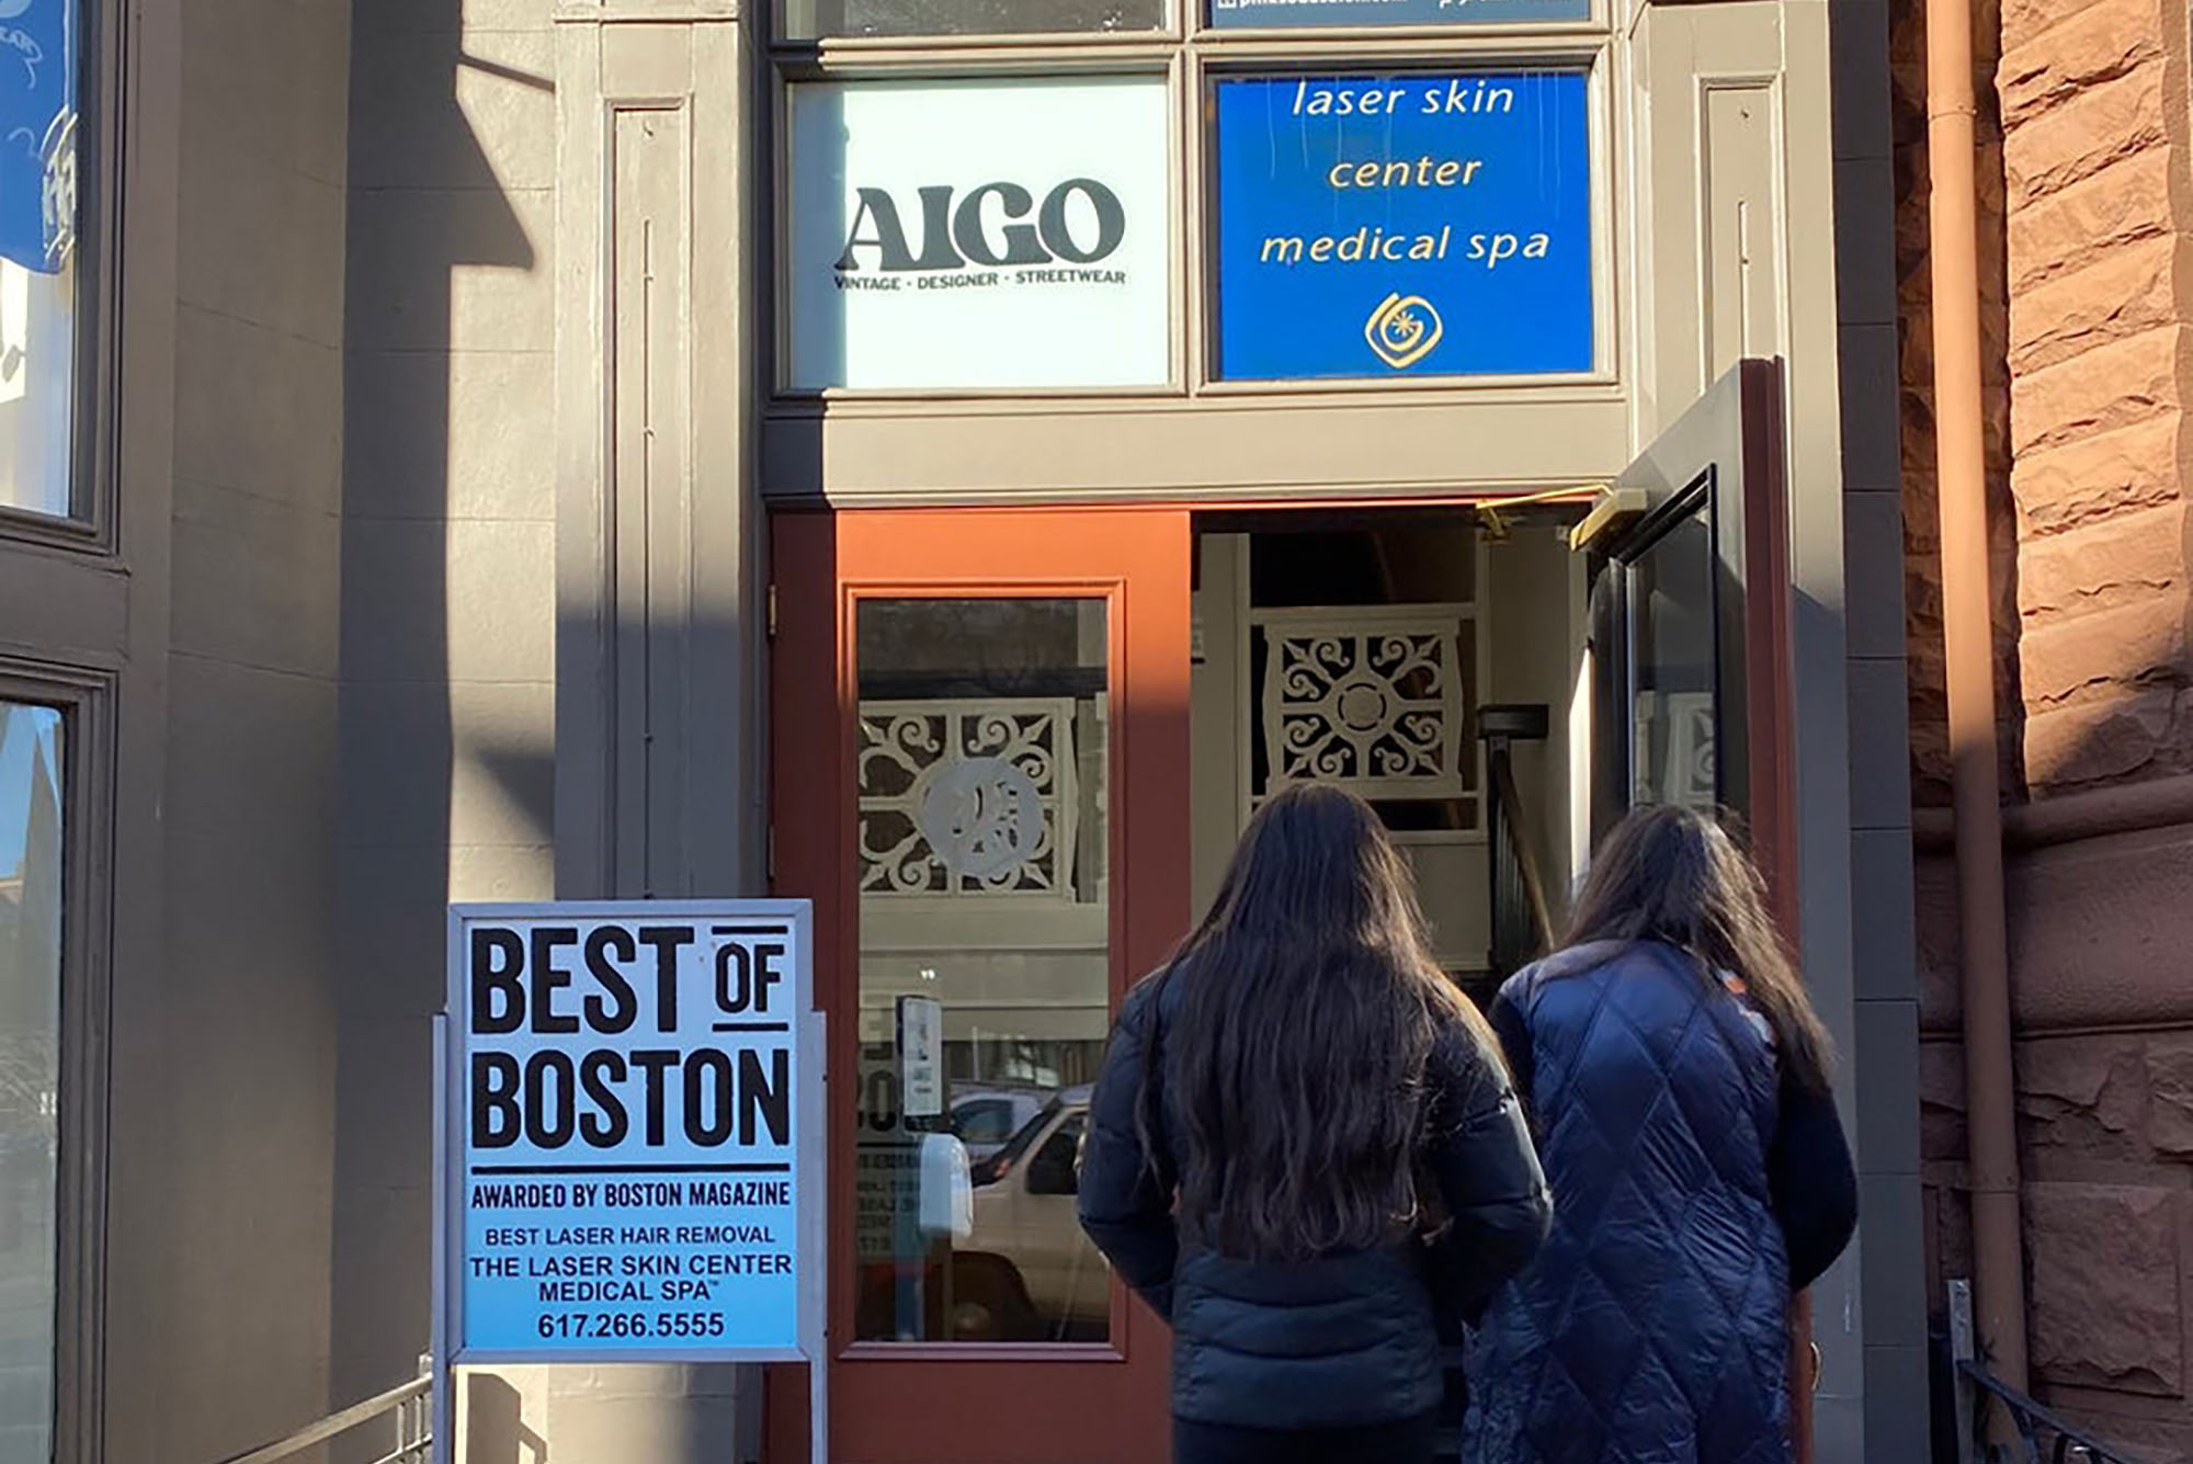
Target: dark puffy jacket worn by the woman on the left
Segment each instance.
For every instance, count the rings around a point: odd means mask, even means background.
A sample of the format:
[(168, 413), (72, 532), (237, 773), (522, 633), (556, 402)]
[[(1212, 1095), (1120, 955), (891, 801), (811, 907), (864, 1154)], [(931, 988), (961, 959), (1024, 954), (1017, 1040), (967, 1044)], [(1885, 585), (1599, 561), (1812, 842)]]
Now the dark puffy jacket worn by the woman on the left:
[(1436, 1245), (1393, 1245), (1300, 1262), (1254, 1262), (1175, 1225), (1164, 1096), (1149, 1153), (1136, 1113), (1162, 1080), (1164, 977), (1121, 1008), (1090, 1100), (1081, 1225), (1121, 1278), (1173, 1326), (1173, 1416), (1257, 1429), (1399, 1422), (1441, 1403), (1441, 1313), (1476, 1313), (1544, 1240), (1546, 1181), (1522, 1107), (1467, 1032), (1428, 1072), (1423, 1168), (1450, 1223)]

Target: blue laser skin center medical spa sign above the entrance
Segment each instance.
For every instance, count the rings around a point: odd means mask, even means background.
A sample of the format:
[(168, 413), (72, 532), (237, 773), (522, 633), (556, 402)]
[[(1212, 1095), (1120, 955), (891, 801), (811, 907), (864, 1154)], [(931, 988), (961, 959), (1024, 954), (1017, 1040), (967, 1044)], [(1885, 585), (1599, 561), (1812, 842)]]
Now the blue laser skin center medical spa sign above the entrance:
[(1581, 70), (1217, 83), (1217, 377), (1592, 370)]

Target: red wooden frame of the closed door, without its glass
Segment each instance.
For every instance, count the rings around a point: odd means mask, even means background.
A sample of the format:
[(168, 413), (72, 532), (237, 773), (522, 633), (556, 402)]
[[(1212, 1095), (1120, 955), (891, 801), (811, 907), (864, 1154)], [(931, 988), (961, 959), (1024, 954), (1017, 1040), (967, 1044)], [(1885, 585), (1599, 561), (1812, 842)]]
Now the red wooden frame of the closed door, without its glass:
[[(853, 1072), (853, 614), (871, 596), (1110, 603), (1112, 1002), (1189, 923), (1189, 511), (895, 508), (772, 517), (772, 890), (816, 910), (831, 1070)], [(833, 728), (836, 736), (818, 734)], [(1092, 1346), (851, 1343), (851, 1113), (831, 1094), (831, 1457), (851, 1464), (1140, 1464), (1164, 1457), (1169, 1335), (1114, 1284)], [(768, 1370), (770, 1464), (809, 1457), (807, 1370)]]

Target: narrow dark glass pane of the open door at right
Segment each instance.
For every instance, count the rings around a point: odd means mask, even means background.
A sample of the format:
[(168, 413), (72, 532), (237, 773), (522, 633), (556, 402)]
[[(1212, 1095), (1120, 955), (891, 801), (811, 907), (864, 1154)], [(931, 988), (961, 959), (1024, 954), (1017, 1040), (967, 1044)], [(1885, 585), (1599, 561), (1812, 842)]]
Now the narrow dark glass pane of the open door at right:
[(1715, 554), (1706, 508), (1629, 563), (1634, 800), (1711, 809), (1715, 760)]

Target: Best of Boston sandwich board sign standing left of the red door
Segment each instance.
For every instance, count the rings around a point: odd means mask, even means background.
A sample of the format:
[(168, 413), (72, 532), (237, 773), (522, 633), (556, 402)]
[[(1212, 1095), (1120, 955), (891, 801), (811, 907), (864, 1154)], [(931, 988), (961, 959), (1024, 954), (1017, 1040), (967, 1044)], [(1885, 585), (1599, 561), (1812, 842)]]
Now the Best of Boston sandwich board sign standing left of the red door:
[(439, 1457), (454, 1365), (822, 1361), (811, 949), (805, 901), (450, 907)]

